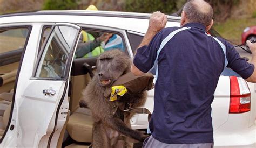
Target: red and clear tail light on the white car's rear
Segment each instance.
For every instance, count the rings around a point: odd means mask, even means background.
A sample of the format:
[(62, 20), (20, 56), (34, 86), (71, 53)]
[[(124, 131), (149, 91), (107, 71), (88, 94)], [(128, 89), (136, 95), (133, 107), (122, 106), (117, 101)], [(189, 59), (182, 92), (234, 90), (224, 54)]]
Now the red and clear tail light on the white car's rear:
[(244, 79), (230, 76), (230, 113), (238, 114), (251, 110), (251, 93)]

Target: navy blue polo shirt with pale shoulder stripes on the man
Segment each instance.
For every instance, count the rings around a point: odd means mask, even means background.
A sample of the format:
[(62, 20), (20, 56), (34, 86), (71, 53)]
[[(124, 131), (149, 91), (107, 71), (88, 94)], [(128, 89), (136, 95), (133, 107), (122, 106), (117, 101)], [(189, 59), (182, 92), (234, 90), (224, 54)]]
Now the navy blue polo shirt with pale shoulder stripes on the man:
[[(156, 69), (152, 136), (163, 143), (212, 143), (211, 103), (224, 67), (247, 79), (254, 65), (200, 23), (169, 27), (137, 50), (134, 65)], [(225, 75), (225, 74), (224, 74)]]

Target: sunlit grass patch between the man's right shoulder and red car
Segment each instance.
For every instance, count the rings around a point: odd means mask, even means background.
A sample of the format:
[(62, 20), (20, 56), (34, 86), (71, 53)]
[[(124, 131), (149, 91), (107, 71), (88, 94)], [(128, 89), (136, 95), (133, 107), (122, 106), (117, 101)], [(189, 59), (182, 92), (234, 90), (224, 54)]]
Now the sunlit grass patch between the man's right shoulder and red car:
[(241, 44), (241, 34), (248, 26), (255, 26), (256, 18), (228, 19), (224, 23), (215, 23), (214, 29), (217, 30), (225, 39), (235, 44)]

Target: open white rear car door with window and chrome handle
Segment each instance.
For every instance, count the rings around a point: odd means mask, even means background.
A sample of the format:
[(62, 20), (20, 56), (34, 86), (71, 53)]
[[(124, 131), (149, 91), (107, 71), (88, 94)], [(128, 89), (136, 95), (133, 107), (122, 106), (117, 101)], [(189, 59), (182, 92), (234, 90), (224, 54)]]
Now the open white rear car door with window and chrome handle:
[(12, 116), (12, 122), (17, 116), (17, 147), (56, 147), (69, 108), (67, 88), (81, 30), (70, 23), (53, 25), (44, 34), (32, 76), (25, 82), (18, 80), (14, 107), (17, 115)]

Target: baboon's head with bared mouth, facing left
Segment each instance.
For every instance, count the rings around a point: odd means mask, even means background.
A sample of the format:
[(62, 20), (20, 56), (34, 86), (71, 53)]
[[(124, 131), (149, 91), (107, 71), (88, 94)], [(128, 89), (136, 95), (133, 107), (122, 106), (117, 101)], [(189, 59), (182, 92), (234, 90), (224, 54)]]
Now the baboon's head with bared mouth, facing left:
[[(125, 58), (124, 58), (125, 57)], [(101, 86), (111, 86), (127, 69), (126, 56), (118, 51), (104, 52), (97, 61), (98, 80)]]

